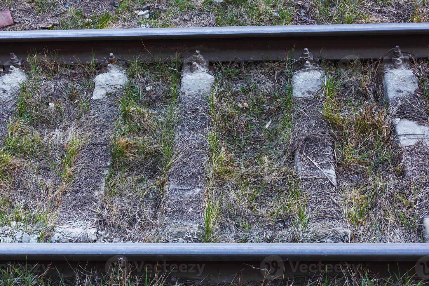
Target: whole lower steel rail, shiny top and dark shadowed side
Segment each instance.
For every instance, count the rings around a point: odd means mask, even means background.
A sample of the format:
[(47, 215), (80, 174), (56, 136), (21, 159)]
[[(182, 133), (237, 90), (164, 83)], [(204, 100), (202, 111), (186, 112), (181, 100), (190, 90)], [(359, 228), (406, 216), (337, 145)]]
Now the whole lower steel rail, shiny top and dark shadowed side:
[[(228, 283), (238, 278), (240, 281), (263, 280), (267, 275), (272, 278), (308, 277), (322, 274), (326, 267), (331, 267), (329, 265), (334, 265), (332, 269), (335, 265), (342, 265), (341, 271), (327, 271), (332, 275), (366, 270), (387, 277), (394, 274), (412, 276), (416, 272), (422, 277), (424, 272), (419, 272), (419, 269), (427, 267), (428, 255), (429, 244), (422, 243), (0, 244), (0, 265), (27, 263), (38, 271), (50, 268), (52, 273), (63, 276), (74, 275), (76, 269), (81, 272), (94, 272), (96, 269), (109, 272), (112, 265), (120, 261), (126, 262), (135, 275), (149, 273), (154, 277), (173, 272), (175, 277), (182, 279)], [(42, 267), (36, 268), (35, 265)], [(154, 271), (154, 265), (160, 267), (159, 271)], [(182, 267), (183, 271), (174, 271), (171, 265)], [(192, 265), (197, 265), (200, 271), (190, 271)], [(263, 270), (270, 265), (276, 267), (269, 269), (275, 270), (272, 276)], [(424, 274), (422, 278), (425, 278)]]

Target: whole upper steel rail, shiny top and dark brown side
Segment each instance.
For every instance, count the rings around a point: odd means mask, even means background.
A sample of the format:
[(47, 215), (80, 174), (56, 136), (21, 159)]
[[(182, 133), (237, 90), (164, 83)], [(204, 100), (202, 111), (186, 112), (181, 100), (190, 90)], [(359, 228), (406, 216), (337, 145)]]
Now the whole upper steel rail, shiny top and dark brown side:
[(298, 58), (303, 48), (322, 59), (368, 60), (395, 45), (423, 58), (429, 23), (2, 31), (0, 43), (3, 63), (10, 52), (21, 58), (45, 52), (77, 63), (105, 60), (110, 52), (125, 60), (166, 60), (196, 49), (211, 61), (263, 61)]

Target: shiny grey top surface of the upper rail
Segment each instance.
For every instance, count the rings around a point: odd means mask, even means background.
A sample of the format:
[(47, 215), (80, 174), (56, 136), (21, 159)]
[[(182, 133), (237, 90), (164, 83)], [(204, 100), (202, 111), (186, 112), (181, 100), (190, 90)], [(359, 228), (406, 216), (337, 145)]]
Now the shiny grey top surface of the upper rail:
[(0, 42), (429, 34), (429, 23), (0, 31)]

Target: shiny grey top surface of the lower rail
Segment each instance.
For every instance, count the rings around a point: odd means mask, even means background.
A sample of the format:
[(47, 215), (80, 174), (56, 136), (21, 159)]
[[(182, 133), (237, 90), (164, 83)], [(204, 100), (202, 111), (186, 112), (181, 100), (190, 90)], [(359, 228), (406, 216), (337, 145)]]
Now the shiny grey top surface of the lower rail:
[(275, 255), (284, 260), (414, 261), (429, 255), (424, 243), (4, 243), (0, 260), (128, 259), (259, 261)]

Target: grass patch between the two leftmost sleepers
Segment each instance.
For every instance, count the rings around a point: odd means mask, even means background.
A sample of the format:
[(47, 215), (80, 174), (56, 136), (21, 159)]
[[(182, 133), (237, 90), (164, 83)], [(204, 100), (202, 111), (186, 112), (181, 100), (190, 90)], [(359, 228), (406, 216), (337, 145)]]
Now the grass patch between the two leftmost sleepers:
[[(28, 81), (10, 110), (15, 114), (6, 118), (2, 138), (1, 224), (37, 224), (43, 240), (61, 207), (64, 213), (76, 211), (89, 199), (76, 192), (82, 190), (78, 182), (85, 167), (81, 151), (91, 136), (88, 126), (79, 124), (91, 86), (81, 67), (74, 68), (81, 76), (72, 78), (66, 66), (40, 58), (29, 62)], [(67, 207), (64, 202), (71, 196), (73, 205)]]

